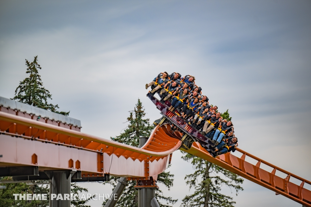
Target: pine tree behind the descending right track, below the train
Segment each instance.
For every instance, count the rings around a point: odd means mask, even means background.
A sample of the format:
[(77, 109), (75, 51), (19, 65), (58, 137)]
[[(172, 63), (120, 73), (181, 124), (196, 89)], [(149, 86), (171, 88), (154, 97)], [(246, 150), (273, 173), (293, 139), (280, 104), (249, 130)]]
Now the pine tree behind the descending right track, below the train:
[[(221, 116), (231, 121), (228, 110), (221, 113)], [(230, 171), (210, 163), (202, 158), (183, 152), (183, 160), (191, 162), (194, 173), (186, 175), (186, 184), (194, 188), (194, 193), (186, 195), (183, 198), (182, 206), (184, 207), (233, 207), (235, 202), (233, 198), (220, 193), (221, 187), (226, 186), (234, 189), (236, 195), (243, 188), (239, 185), (243, 179)]]

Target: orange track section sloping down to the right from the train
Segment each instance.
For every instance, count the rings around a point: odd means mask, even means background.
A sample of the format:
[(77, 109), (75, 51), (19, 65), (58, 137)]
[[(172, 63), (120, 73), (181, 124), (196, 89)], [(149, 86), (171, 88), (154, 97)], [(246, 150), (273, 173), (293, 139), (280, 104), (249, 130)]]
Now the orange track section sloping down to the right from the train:
[[(284, 195), (291, 200), (305, 205), (311, 206), (311, 191), (305, 189), (304, 183), (311, 184), (310, 181), (305, 180), (299, 176), (289, 173), (281, 168), (276, 167), (260, 158), (257, 158), (244, 150), (237, 148), (237, 151), (243, 153), (241, 158), (234, 156), (233, 154), (227, 153), (222, 154), (216, 158), (213, 158), (198, 142), (194, 142), (190, 150), (184, 150), (190, 154), (196, 155), (202, 159), (205, 159), (211, 163), (214, 163), (222, 168), (229, 170), (241, 177), (244, 177), (252, 182), (255, 182), (263, 187), (266, 187), (278, 194)], [(245, 161), (245, 157), (251, 157), (258, 161), (256, 165)], [(264, 163), (273, 168), (272, 172), (267, 172), (260, 168), (260, 163)], [(285, 178), (281, 178), (275, 175), (276, 170), (287, 174)], [(289, 182), (290, 177), (295, 177), (301, 181), (300, 186)]]

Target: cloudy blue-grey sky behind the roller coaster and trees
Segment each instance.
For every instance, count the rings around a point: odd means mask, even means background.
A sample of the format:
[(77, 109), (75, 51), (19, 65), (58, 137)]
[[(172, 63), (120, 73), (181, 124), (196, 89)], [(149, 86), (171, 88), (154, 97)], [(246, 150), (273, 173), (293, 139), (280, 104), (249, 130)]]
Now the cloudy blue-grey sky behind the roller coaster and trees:
[[(163, 71), (191, 74), (211, 104), (229, 109), (241, 149), (311, 180), (309, 0), (1, 0), (0, 96), (14, 96), (36, 55), (51, 103), (83, 132), (119, 135), (138, 98), (158, 119), (145, 84)], [(169, 169), (174, 187), (161, 188), (179, 199), (174, 207), (192, 192), (183, 178), (193, 169), (180, 156)], [(243, 187), (238, 196), (222, 190), (236, 206), (301, 206), (247, 180)]]

